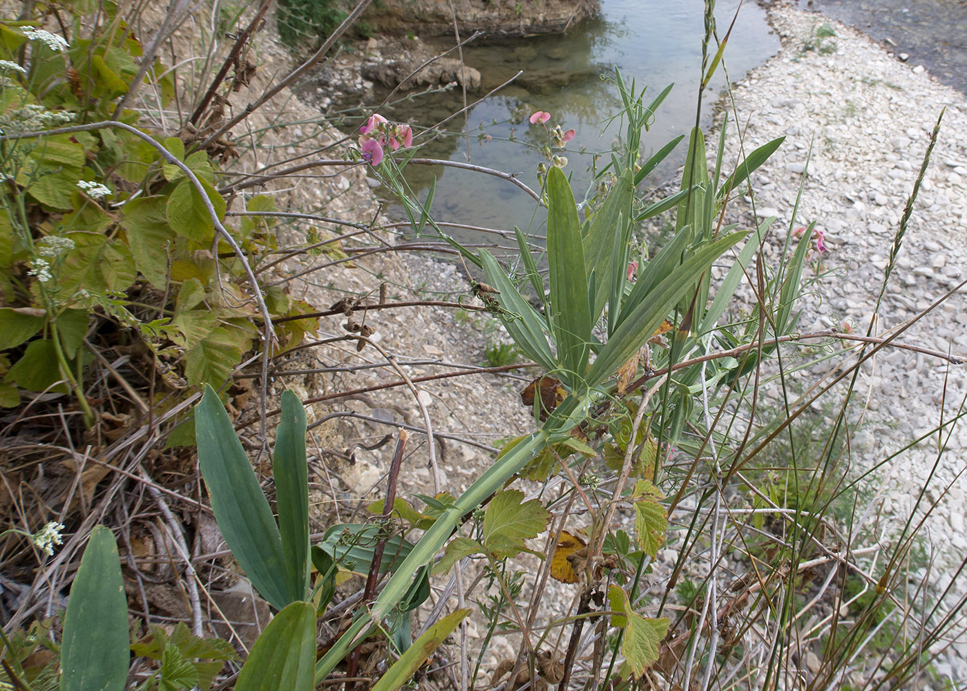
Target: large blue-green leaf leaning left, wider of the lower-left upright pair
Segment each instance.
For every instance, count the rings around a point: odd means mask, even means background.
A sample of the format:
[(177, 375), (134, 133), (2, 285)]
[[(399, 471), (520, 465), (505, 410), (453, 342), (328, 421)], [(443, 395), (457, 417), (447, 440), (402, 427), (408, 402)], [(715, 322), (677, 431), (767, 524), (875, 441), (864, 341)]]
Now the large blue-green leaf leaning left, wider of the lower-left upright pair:
[(249, 457), (219, 395), (208, 385), (201, 403), (195, 406), (195, 440), (198, 466), (225, 543), (251, 585), (270, 605), (281, 610), (303, 593), (288, 589), (283, 576), (282, 540), (269, 501), (255, 479)]

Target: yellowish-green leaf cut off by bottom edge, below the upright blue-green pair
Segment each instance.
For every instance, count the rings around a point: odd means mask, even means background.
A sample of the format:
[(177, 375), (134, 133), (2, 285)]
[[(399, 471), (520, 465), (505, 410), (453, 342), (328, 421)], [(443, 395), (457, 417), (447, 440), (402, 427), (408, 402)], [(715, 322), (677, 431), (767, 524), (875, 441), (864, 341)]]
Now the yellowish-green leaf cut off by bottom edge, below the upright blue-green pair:
[(314, 663), (315, 608), (293, 602), (252, 646), (235, 691), (311, 691)]

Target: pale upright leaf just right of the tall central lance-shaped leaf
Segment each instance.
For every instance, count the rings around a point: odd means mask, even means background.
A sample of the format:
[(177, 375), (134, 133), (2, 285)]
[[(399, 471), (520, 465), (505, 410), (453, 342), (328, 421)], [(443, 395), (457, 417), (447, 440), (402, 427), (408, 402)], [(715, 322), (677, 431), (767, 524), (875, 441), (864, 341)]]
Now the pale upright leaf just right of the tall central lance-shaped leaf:
[(594, 274), (598, 285), (591, 310), (592, 323), (598, 321), (608, 301), (612, 273), (617, 271), (622, 276), (625, 273), (625, 266), (619, 265), (621, 259), (613, 254), (613, 250), (616, 238), (620, 247), (627, 247), (630, 243), (631, 226), (627, 221), (631, 218), (633, 192), (631, 171), (626, 170), (591, 219), (591, 228), (584, 238), (585, 273), (588, 276)]

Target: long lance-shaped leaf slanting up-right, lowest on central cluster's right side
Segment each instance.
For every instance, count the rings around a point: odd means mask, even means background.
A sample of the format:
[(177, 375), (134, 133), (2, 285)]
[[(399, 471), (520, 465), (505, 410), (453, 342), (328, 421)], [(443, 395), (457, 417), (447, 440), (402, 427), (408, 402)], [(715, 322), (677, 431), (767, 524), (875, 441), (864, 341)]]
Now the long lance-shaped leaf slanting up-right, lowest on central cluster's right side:
[(747, 231), (732, 233), (696, 251), (644, 296), (644, 299), (626, 311), (621, 324), (601, 348), (598, 359), (588, 371), (588, 383), (592, 386), (600, 384), (628, 362), (631, 355), (655, 333), (661, 320), (698, 282), (702, 272), (746, 235)]

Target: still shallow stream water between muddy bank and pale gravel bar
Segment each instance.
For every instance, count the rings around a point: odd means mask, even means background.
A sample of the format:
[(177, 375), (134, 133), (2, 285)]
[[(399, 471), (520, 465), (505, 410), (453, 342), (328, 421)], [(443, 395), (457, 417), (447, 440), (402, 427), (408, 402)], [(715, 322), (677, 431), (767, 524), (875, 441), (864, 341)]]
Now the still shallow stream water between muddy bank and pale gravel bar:
[[(718, 36), (724, 37), (736, 14), (738, 0), (719, 0), (716, 7)], [(677, 135), (688, 135), (695, 123), (704, 31), (702, 0), (602, 0), (601, 15), (571, 27), (563, 36), (518, 39), (463, 49), (465, 64), (483, 75), (480, 92), (468, 93), (468, 102), (523, 74), (498, 94), (451, 121), (450, 135), (430, 142), (421, 151), (426, 158), (470, 162), (474, 165), (519, 173), (519, 179), (539, 190), (538, 165), (545, 162), (540, 147), (548, 142), (548, 127), (573, 129), (567, 150), (554, 153), (568, 158), (565, 171), (580, 201), (588, 191), (592, 173), (588, 167), (595, 153), (611, 148), (624, 124), (611, 121), (621, 108), (614, 84), (604, 77), (619, 69), (630, 85), (647, 87), (645, 103), (668, 84), (675, 84), (660, 105), (654, 125), (643, 138), (644, 156), (657, 151)], [(724, 69), (706, 90), (700, 122), (707, 127), (712, 104), (726, 84), (737, 81), (752, 67), (777, 52), (779, 42), (755, 3), (746, 2), (738, 14), (724, 54)], [(714, 54), (716, 46), (709, 48)], [(424, 127), (435, 124), (463, 106), (463, 94), (446, 94), (402, 103), (387, 115), (395, 120), (413, 118)], [(551, 114), (548, 127), (531, 125), (534, 111)], [(466, 128), (466, 129), (464, 129)], [(656, 174), (670, 176), (685, 160), (688, 139)], [(553, 147), (552, 147), (553, 148)], [(604, 160), (606, 163), (607, 159)], [(518, 225), (530, 233), (542, 233), (543, 217), (533, 198), (505, 180), (480, 173), (411, 165), (407, 178), (423, 199), (435, 176), (433, 214), (438, 221), (510, 229)], [(396, 215), (399, 210), (396, 209)], [(455, 232), (472, 242), (480, 236)]]

